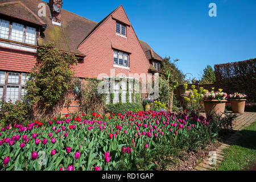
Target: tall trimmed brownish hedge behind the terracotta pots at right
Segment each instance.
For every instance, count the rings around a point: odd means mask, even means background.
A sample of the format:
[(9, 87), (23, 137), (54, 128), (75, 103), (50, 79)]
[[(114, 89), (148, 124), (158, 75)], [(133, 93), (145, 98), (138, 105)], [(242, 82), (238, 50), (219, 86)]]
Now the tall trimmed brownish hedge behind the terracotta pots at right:
[(226, 93), (245, 93), (248, 102), (256, 102), (256, 58), (214, 65), (216, 88)]

